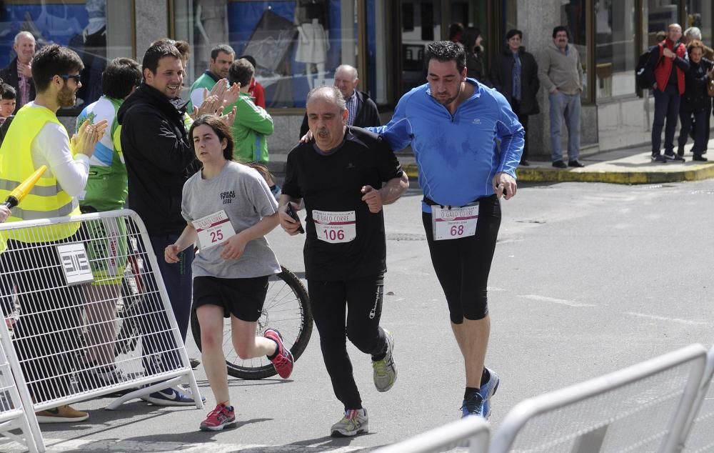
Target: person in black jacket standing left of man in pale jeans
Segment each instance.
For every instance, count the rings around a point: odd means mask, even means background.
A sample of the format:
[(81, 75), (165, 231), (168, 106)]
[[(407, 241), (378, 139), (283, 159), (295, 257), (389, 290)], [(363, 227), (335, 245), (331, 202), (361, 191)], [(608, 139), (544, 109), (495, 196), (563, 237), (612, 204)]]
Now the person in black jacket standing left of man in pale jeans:
[(499, 93), (506, 96), (513, 113), (526, 129), (526, 144), (523, 146), (521, 165), (528, 163), (528, 116), (540, 113), (535, 94), (540, 89), (538, 63), (533, 55), (521, 47), (523, 31), (509, 30), (506, 34), (506, 49), (496, 55), (491, 68), (491, 83)]

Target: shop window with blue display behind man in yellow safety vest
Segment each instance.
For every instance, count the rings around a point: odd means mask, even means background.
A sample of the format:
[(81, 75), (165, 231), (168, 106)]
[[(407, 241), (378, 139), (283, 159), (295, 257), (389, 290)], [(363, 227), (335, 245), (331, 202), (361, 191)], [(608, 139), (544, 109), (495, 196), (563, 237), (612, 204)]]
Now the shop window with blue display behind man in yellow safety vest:
[(34, 36), (36, 49), (47, 44), (71, 47), (84, 62), (82, 88), (76, 106), (59, 114), (78, 114), (84, 105), (101, 96), (101, 73), (106, 61), (134, 53), (132, 29), (131, 9), (124, 2), (5, 0), (0, 2), (0, 68), (14, 60), (14, 37), (19, 31), (29, 31)]

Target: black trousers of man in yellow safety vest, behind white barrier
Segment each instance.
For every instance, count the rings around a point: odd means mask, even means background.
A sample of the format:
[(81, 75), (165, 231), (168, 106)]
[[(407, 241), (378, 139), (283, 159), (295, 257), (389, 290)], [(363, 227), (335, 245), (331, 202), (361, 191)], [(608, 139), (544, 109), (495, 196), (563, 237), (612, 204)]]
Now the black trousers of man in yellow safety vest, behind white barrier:
[(81, 285), (66, 285), (55, 247), (79, 242), (79, 236), (37, 244), (9, 240), (0, 254), (0, 305), (4, 312), (14, 308), (17, 292), (13, 344), (36, 403), (70, 394), (71, 376), (80, 368), (84, 292)]

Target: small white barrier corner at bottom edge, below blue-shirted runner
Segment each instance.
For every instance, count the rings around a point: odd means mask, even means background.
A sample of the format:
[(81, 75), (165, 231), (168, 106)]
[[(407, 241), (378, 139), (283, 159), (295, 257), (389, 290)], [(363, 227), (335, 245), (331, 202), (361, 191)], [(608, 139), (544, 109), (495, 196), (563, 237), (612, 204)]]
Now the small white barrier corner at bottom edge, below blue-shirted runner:
[(466, 417), (403, 442), (376, 449), (374, 453), (436, 453), (466, 446), (469, 453), (486, 453), (489, 438), (485, 419)]

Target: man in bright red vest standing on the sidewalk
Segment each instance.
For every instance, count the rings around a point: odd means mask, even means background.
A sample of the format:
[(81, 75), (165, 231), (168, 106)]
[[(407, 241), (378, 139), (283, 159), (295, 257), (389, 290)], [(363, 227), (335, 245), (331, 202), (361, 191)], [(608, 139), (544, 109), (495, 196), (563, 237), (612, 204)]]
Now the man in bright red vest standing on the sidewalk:
[[(684, 44), (679, 43), (682, 27), (670, 24), (667, 37), (658, 48), (650, 52), (645, 71), (653, 73), (655, 94), (655, 117), (652, 124), (653, 162), (664, 164), (668, 160), (683, 162), (684, 158), (674, 152), (674, 133), (677, 129), (679, 106), (685, 89), (684, 74), (689, 70), (689, 56)], [(667, 122), (665, 126), (665, 121)], [(662, 129), (665, 129), (665, 154), (662, 155)]]

